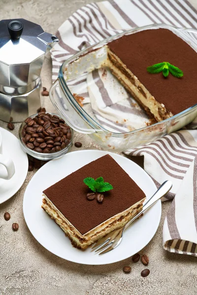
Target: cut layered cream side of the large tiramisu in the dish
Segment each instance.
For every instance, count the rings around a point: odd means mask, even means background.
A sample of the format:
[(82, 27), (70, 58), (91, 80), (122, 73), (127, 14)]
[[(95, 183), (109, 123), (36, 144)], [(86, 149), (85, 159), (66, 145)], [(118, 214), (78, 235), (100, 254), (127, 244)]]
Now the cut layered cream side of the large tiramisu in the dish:
[(112, 74), (123, 84), (133, 98), (141, 105), (150, 118), (156, 121), (162, 121), (170, 118), (173, 114), (165, 109), (164, 104), (159, 103), (154, 96), (144, 87), (137, 77), (129, 70), (122, 61), (113, 54), (110, 49), (108, 51), (108, 59), (103, 65), (110, 68)]

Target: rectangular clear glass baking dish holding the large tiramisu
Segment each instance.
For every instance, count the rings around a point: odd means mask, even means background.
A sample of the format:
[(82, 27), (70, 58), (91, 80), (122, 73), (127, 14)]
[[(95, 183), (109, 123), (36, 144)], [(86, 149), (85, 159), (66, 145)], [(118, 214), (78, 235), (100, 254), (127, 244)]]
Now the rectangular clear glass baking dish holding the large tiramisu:
[[(197, 30), (195, 29), (178, 29), (164, 24), (130, 29), (104, 39), (67, 59), (60, 68), (58, 79), (50, 89), (50, 99), (66, 123), (74, 130), (88, 134), (105, 150), (124, 151), (141, 147), (184, 127), (197, 117), (196, 104), (171, 118), (151, 125), (149, 118), (134, 102), (133, 98), (131, 96), (125, 98), (126, 90), (114, 76), (112, 77), (109, 69), (101, 67), (103, 60), (106, 59), (104, 45), (123, 35), (133, 34), (145, 29), (159, 28), (171, 30), (197, 51)], [(116, 90), (114, 93), (118, 93), (117, 99), (120, 103), (125, 106), (129, 100), (135, 112), (137, 110), (139, 116), (132, 117), (130, 115), (129, 119), (124, 119), (125, 121), (131, 120), (132, 127), (124, 124), (124, 122), (111, 120), (112, 114), (108, 113), (106, 109), (101, 110), (101, 113), (95, 111), (98, 109), (100, 111), (100, 107), (97, 105), (97, 99), (94, 102), (91, 100), (94, 85), (90, 76), (93, 75), (94, 71), (99, 71), (101, 76), (107, 75), (107, 87), (111, 91)], [(113, 83), (110, 79), (113, 80)], [(102, 89), (99, 89), (99, 91), (102, 91)], [(85, 98), (83, 106), (75, 99), (75, 93)], [(92, 104), (86, 103), (88, 101), (91, 101)], [(104, 113), (107, 114), (107, 120), (100, 117), (100, 114)]]

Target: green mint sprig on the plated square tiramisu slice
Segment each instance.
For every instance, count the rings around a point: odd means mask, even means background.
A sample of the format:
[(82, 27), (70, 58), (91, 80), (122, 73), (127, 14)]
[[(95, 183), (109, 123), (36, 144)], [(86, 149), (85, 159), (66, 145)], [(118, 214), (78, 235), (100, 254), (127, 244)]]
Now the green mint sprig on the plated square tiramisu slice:
[(109, 182), (104, 182), (103, 177), (99, 177), (96, 180), (92, 177), (86, 177), (83, 182), (94, 192), (103, 193), (113, 189), (113, 186)]

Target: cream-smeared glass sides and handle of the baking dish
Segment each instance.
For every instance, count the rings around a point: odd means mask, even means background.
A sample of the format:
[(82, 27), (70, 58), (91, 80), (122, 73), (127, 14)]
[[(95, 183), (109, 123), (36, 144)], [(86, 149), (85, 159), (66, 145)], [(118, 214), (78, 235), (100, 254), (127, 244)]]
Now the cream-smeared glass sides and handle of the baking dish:
[[(197, 117), (196, 104), (178, 115), (161, 122), (149, 126), (144, 124), (142, 128), (129, 132), (113, 132), (110, 128), (107, 128), (106, 125), (103, 126), (100, 123), (90, 107), (81, 107), (72, 94), (74, 93), (73, 85), (77, 85), (79, 79), (83, 78), (85, 81), (87, 75), (94, 69), (98, 69), (101, 62), (106, 59), (104, 45), (123, 35), (132, 34), (146, 29), (159, 28), (171, 30), (197, 51), (197, 30), (185, 28), (177, 29), (172, 26), (157, 24), (131, 29), (115, 36), (111, 36), (79, 52), (62, 64), (58, 79), (52, 85), (49, 95), (59, 114), (65, 119), (69, 126), (80, 133), (88, 134), (106, 150), (124, 151), (149, 144), (184, 127)], [(99, 50), (94, 51), (95, 49)]]

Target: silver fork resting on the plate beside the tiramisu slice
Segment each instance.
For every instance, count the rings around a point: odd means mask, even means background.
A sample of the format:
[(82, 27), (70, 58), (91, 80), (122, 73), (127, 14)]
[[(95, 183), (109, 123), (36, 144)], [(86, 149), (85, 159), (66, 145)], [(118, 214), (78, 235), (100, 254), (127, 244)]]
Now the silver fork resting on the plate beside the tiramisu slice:
[(144, 211), (155, 204), (158, 200), (164, 197), (164, 195), (167, 194), (171, 188), (172, 182), (169, 180), (164, 181), (164, 183), (158, 188), (156, 193), (143, 205), (141, 211), (137, 215), (131, 218), (131, 220), (129, 220), (122, 228), (115, 230), (99, 239), (99, 241), (92, 247), (92, 249), (94, 250), (101, 246), (95, 251), (99, 252), (100, 250), (104, 249), (104, 251), (100, 252), (99, 255), (105, 254), (115, 249), (122, 241), (123, 232), (131, 224), (131, 222), (133, 222), (137, 217), (139, 217)]

